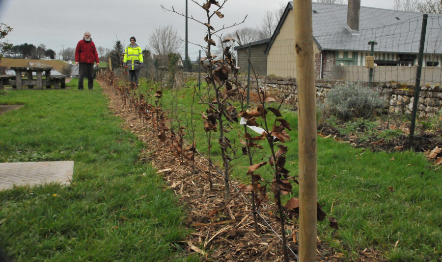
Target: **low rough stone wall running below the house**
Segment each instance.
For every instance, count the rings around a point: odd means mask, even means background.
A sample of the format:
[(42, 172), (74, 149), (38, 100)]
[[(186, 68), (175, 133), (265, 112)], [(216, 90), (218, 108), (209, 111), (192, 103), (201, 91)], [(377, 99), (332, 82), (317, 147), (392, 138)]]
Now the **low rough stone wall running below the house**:
[[(184, 73), (185, 78), (194, 77), (198, 79), (197, 73)], [(204, 79), (203, 74), (201, 78)], [(247, 75), (239, 77), (243, 86), (247, 85)], [(275, 76), (258, 76), (258, 83), (260, 87), (271, 95), (278, 98), (284, 98), (288, 102), (297, 103), (298, 90), (295, 78), (275, 77)], [(316, 81), (316, 97), (320, 102), (327, 98), (327, 93), (336, 84), (342, 83), (340, 81)], [(376, 85), (376, 83), (373, 83)], [(256, 80), (250, 79), (250, 91), (256, 87)], [(388, 101), (388, 112), (411, 114), (414, 101), (414, 86), (401, 85), (398, 83), (380, 83), (373, 87), (378, 90), (380, 95)], [(421, 86), (419, 93), (419, 102), (417, 108), (417, 116), (419, 118), (431, 117), (437, 115), (442, 108), (442, 86)]]

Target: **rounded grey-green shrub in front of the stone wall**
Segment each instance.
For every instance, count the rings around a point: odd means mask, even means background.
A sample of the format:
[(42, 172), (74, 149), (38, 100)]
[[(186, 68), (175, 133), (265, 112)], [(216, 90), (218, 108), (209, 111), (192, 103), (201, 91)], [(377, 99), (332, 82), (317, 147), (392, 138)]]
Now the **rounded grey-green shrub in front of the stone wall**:
[(343, 119), (368, 118), (385, 104), (379, 92), (374, 89), (355, 83), (344, 83), (329, 91), (324, 110), (329, 115)]

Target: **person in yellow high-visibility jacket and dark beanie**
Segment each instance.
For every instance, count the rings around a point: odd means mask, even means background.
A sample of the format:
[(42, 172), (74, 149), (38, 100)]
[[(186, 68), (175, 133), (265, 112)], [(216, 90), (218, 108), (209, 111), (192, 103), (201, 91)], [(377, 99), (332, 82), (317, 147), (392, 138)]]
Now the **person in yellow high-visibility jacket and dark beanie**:
[(137, 40), (131, 37), (131, 44), (124, 50), (123, 62), (129, 70), (129, 80), (138, 85), (139, 70), (143, 66), (143, 52), (135, 44)]

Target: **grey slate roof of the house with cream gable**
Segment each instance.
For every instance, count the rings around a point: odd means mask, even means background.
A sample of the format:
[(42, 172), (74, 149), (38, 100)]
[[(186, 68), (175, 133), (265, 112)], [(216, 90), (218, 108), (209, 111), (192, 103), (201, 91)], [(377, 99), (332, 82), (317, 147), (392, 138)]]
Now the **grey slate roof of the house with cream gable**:
[[(275, 41), (293, 1), (287, 4), (271, 38)], [(369, 41), (378, 43), (376, 52), (417, 53), (423, 14), (373, 7), (360, 7), (359, 31), (349, 31), (347, 5), (312, 3), (313, 37), (321, 50), (370, 51)], [(442, 15), (429, 14), (424, 53), (442, 54)]]

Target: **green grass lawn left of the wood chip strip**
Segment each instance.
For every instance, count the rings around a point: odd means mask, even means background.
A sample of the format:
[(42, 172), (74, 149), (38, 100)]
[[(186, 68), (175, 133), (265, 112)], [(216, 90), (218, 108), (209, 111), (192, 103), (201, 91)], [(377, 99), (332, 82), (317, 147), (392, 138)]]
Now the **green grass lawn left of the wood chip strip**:
[(0, 104), (0, 162), (73, 160), (70, 186), (0, 191), (0, 246), (15, 261), (192, 261), (180, 253), (184, 212), (143, 144), (93, 91), (9, 90)]

